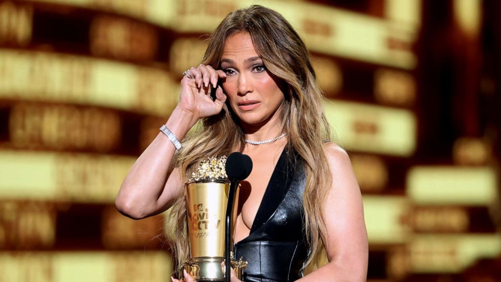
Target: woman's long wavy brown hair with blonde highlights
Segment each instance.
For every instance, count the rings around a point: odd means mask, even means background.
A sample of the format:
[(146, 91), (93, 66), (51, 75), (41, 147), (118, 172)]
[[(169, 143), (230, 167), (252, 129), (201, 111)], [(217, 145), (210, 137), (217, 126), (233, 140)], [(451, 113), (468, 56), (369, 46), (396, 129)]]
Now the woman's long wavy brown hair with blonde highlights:
[[(310, 54), (303, 40), (279, 13), (254, 5), (231, 12), (219, 24), (209, 38), (203, 64), (220, 69), (225, 40), (236, 32), (250, 35), (268, 71), (283, 84), (280, 85), (285, 96), (281, 122), (288, 136), (288, 148), (297, 151), (306, 172), (303, 207), (305, 234), (311, 248), (306, 265), (311, 264), (309, 268), (314, 269), (323, 246), (321, 234), (325, 234), (322, 201), (332, 179), (324, 151), (324, 141), (330, 139), (330, 127)], [(200, 160), (228, 155), (234, 150), (243, 151), (244, 139), (236, 117), (225, 105), (220, 114), (203, 119), (202, 126), (183, 139), (183, 149), (176, 155), (175, 165), (186, 181), (186, 175)], [(180, 266), (188, 258), (184, 194), (175, 201), (167, 224), (167, 239)]]

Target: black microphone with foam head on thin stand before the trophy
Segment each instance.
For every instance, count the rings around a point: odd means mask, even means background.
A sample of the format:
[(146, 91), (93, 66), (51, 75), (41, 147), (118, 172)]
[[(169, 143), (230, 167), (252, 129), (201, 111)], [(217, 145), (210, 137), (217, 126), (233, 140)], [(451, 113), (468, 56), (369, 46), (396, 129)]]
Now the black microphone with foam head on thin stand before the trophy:
[(226, 232), (225, 232), (225, 275), (224, 280), (230, 282), (231, 271), (231, 217), (233, 214), (233, 202), (238, 183), (247, 178), (252, 171), (252, 160), (249, 156), (239, 152), (231, 153), (226, 159), (226, 175), (230, 179), (230, 191), (228, 193), (228, 206), (226, 207)]

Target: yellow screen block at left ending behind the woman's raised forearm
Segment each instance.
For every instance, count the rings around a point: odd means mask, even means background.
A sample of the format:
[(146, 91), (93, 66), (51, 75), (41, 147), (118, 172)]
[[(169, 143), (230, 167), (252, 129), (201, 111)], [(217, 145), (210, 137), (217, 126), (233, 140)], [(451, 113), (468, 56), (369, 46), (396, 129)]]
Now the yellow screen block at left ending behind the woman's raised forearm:
[(0, 151), (0, 199), (114, 203), (135, 158)]

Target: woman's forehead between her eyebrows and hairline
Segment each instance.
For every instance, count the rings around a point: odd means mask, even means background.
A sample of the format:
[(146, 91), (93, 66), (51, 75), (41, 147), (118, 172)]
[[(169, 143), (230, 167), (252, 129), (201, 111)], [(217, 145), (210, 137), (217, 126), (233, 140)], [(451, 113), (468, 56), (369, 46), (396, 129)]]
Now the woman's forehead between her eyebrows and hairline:
[(258, 54), (247, 32), (237, 32), (226, 38), (222, 58), (245, 60), (256, 56)]

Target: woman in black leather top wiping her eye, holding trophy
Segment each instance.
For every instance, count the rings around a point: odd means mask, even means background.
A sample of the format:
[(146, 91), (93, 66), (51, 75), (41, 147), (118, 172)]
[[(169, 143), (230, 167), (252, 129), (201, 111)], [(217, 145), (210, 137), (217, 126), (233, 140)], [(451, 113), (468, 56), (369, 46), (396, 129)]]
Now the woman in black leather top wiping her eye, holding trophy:
[[(179, 104), (165, 124), (174, 136), (159, 133), (137, 159), (117, 208), (139, 219), (173, 206), (171, 238), (182, 263), (186, 175), (200, 160), (240, 151), (254, 164), (241, 183), (235, 223), (235, 256), (249, 261), (244, 280), (364, 281), (360, 189), (347, 154), (325, 141), (322, 93), (290, 24), (261, 6), (234, 11), (212, 34), (203, 63), (184, 74)], [(202, 126), (186, 135), (198, 120)], [(176, 154), (177, 140), (183, 144)], [(322, 249), (329, 263), (304, 276)], [(184, 280), (193, 281), (186, 274)]]

